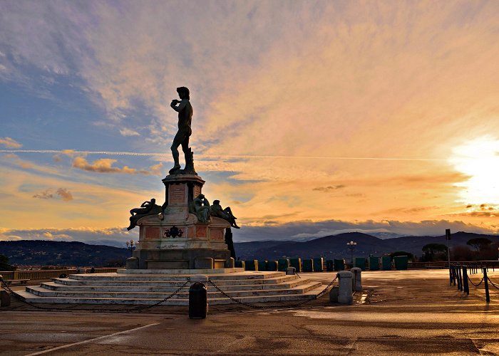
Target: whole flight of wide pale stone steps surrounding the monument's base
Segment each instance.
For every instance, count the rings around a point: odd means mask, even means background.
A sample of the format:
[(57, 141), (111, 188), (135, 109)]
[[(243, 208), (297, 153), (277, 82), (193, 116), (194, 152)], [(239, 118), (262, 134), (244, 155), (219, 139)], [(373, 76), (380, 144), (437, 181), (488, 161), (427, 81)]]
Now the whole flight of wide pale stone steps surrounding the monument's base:
[[(205, 283), (210, 305), (236, 303), (229, 296), (244, 303), (306, 300), (315, 298), (322, 290), (321, 282), (284, 272), (239, 271), (206, 276), (221, 290)], [(40, 286), (26, 286), (26, 291), (17, 293), (31, 303), (151, 305), (183, 286), (162, 305), (189, 305), (192, 282), (186, 281), (190, 277), (160, 273), (73, 274), (52, 278)]]

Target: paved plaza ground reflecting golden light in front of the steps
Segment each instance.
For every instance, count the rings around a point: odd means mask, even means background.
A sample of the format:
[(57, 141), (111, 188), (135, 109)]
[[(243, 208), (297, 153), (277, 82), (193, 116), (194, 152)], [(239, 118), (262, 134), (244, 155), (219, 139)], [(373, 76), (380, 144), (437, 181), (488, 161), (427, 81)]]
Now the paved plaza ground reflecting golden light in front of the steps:
[[(327, 284), (336, 273), (302, 276)], [(489, 277), (499, 282), (498, 272)], [(483, 283), (467, 296), (446, 270), (366, 271), (362, 280), (354, 305), (332, 305), (328, 295), (292, 309), (215, 305), (204, 320), (189, 319), (187, 307), (37, 310), (12, 300), (0, 309), (0, 355), (499, 354), (493, 286), (487, 304)]]

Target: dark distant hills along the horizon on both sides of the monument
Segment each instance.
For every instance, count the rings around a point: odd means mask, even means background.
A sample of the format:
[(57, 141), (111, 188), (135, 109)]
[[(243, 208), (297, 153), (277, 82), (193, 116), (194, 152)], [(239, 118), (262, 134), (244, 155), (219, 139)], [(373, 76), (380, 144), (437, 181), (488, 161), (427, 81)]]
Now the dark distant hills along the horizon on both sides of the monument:
[[(449, 245), (466, 245), (470, 239), (485, 237), (499, 243), (499, 236), (457, 232), (451, 234)], [(349, 232), (334, 236), (324, 236), (309, 241), (253, 241), (235, 243), (236, 255), (242, 260), (277, 259), (286, 257), (326, 259), (349, 258), (346, 246), (349, 241), (357, 243), (354, 256), (383, 256), (394, 251), (407, 251), (416, 256), (423, 253), (426, 244), (446, 244), (445, 236), (403, 236), (393, 239), (379, 239), (376, 236)], [(89, 245), (82, 242), (21, 240), (0, 241), (0, 253), (14, 265), (31, 266), (105, 266), (110, 262), (124, 263), (130, 256), (126, 248), (105, 245)]]

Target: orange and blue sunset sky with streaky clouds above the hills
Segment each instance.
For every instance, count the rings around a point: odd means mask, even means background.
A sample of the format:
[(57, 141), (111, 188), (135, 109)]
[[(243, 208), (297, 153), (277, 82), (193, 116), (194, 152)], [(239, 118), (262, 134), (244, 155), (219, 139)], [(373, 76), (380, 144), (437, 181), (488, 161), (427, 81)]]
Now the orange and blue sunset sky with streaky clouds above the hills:
[(1, 0), (0, 240), (136, 239), (179, 86), (235, 241), (498, 234), (498, 43), (499, 1)]

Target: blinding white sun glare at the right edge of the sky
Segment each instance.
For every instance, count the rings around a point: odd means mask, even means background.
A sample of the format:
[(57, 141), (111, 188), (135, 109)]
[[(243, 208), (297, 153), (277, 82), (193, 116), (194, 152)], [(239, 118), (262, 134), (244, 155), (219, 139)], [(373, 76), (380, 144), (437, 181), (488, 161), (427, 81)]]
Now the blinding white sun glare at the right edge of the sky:
[(468, 175), (461, 187), (466, 204), (499, 204), (499, 140), (481, 137), (453, 149), (451, 163), (458, 172)]

